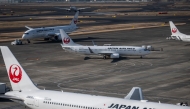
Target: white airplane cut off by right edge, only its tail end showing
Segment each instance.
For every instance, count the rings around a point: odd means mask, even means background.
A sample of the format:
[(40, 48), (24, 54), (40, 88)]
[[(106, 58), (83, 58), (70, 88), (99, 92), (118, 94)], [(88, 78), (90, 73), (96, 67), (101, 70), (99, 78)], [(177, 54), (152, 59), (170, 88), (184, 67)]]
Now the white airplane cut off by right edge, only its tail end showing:
[(186, 35), (181, 33), (177, 27), (174, 25), (172, 21), (169, 21), (170, 23), (170, 29), (171, 29), (171, 37), (167, 37), (166, 39), (171, 40), (179, 40), (179, 41), (184, 41), (184, 42), (190, 42), (190, 35)]

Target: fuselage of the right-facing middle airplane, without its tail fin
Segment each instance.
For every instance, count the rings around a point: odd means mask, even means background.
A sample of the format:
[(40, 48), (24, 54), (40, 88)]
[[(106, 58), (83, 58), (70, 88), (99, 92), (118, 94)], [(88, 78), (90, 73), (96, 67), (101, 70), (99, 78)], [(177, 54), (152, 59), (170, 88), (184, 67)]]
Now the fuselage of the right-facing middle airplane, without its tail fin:
[(136, 47), (136, 46), (63, 46), (62, 45), (62, 47), (66, 51), (81, 53), (85, 55), (92, 55), (92, 54), (110, 55), (117, 53), (120, 56), (122, 55), (144, 56), (150, 53), (149, 50), (143, 47)]

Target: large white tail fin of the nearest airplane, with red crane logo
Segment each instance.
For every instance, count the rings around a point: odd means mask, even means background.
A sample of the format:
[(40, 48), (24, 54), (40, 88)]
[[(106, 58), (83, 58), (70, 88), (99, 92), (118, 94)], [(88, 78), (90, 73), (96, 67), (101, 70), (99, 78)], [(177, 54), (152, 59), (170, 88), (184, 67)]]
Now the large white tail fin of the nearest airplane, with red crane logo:
[(0, 46), (13, 91), (39, 90), (7, 46)]

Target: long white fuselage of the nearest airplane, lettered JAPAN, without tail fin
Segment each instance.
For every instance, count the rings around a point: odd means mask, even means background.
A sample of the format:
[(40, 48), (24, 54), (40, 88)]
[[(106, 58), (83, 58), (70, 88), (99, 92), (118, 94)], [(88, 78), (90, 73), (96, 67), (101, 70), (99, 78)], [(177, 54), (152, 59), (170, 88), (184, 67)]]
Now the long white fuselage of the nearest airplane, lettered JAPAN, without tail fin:
[(17, 95), (32, 109), (190, 109), (164, 103), (142, 102), (115, 97), (77, 94), (48, 90), (8, 92)]

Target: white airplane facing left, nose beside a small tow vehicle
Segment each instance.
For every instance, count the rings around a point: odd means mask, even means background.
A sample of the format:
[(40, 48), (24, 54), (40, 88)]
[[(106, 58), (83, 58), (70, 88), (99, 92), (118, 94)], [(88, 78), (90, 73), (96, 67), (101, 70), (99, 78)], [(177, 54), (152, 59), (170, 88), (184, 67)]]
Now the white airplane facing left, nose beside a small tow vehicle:
[(74, 18), (72, 19), (70, 25), (66, 26), (55, 26), (55, 27), (42, 27), (42, 28), (28, 28), (28, 30), (22, 35), (22, 39), (25, 39), (30, 43), (30, 39), (44, 38), (44, 40), (49, 40), (54, 38), (55, 40), (61, 40), (59, 29), (64, 29), (67, 33), (75, 31), (78, 22), (79, 11), (76, 12)]

